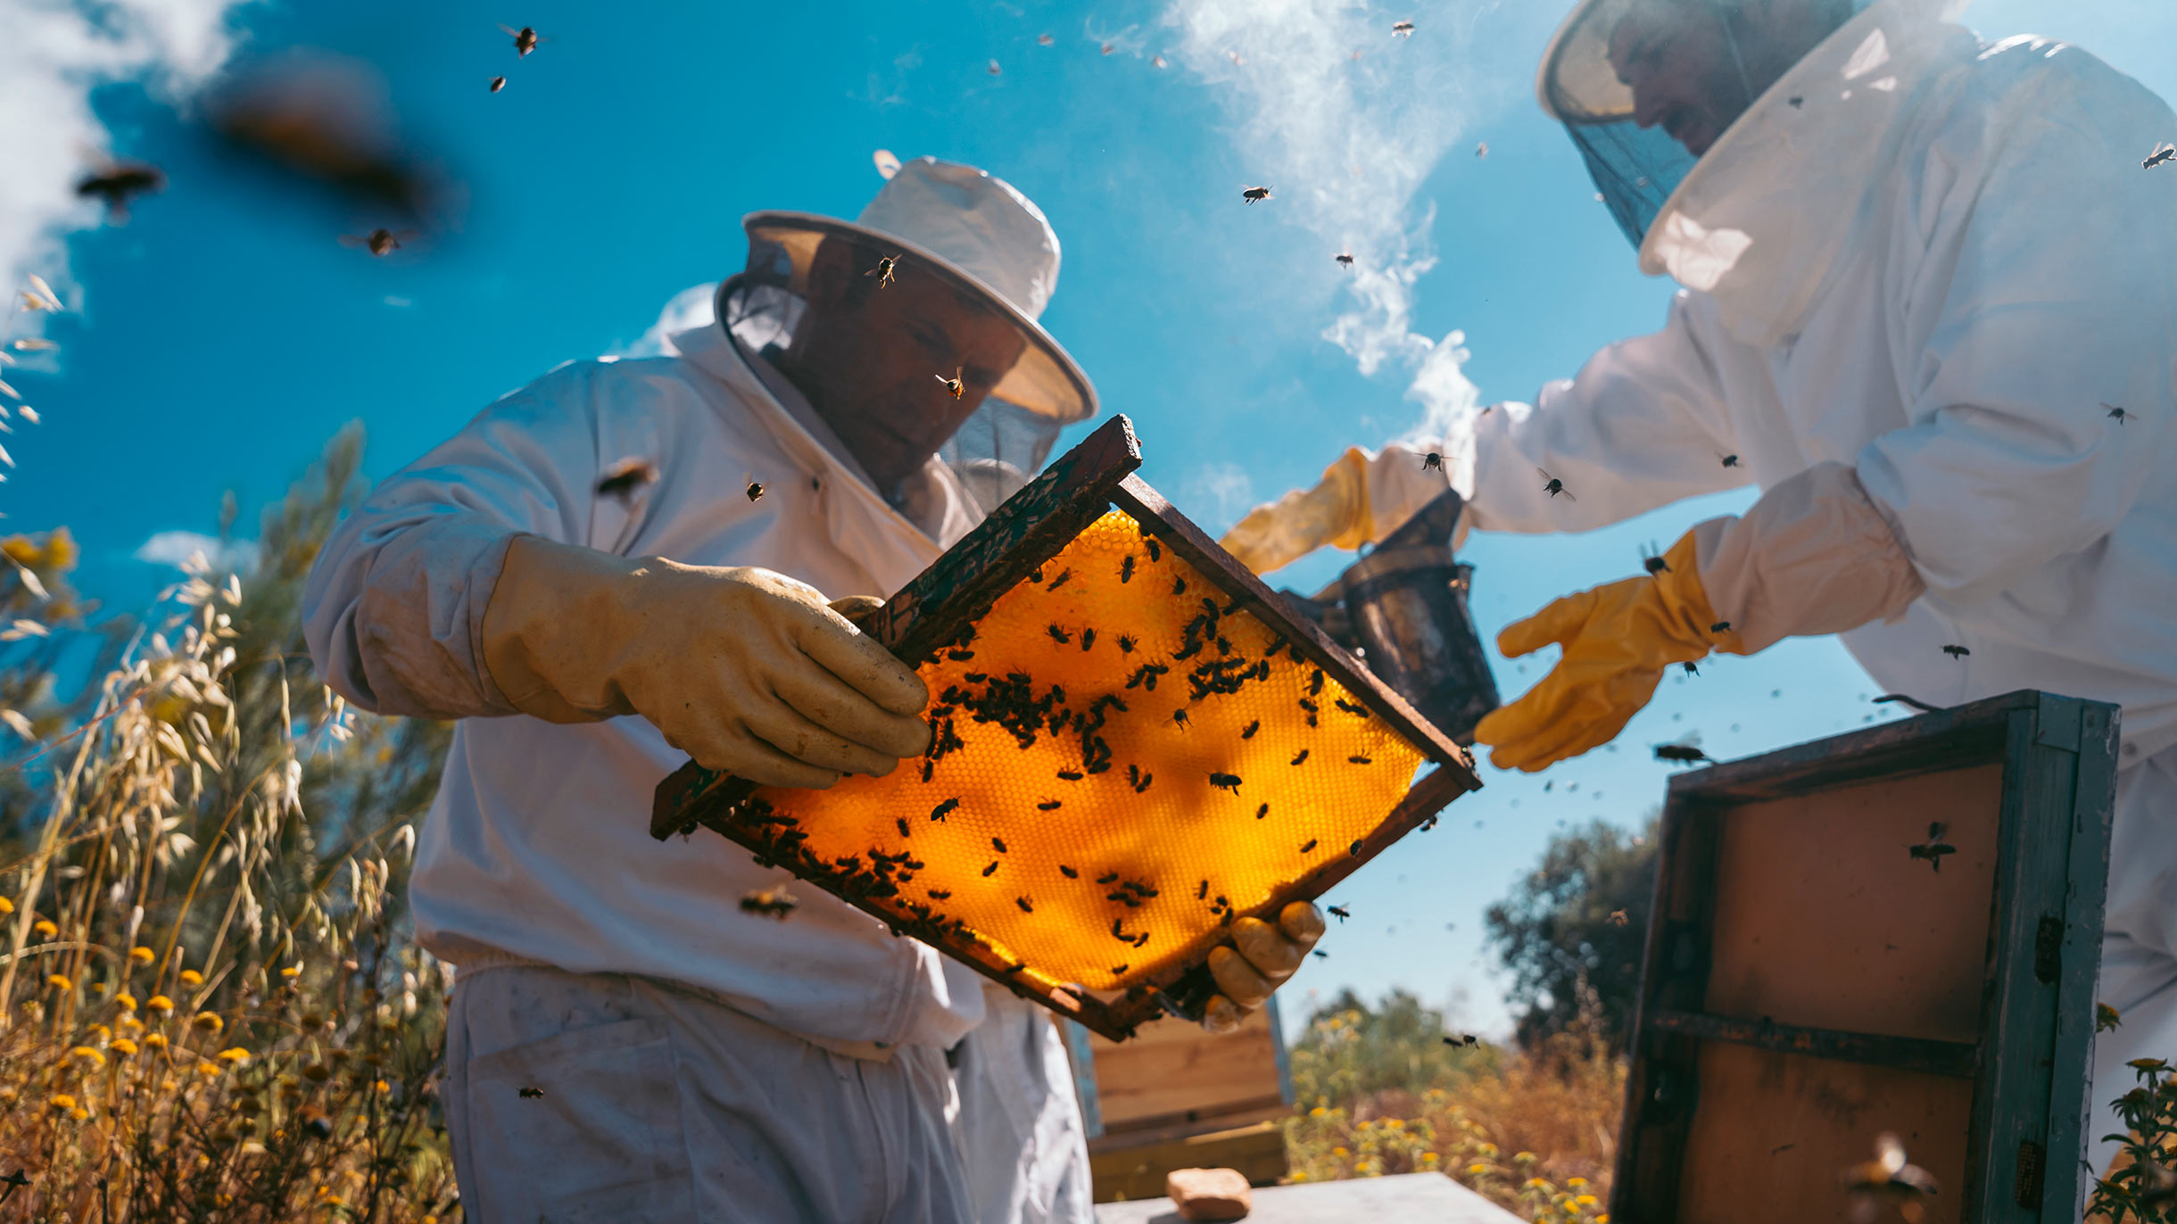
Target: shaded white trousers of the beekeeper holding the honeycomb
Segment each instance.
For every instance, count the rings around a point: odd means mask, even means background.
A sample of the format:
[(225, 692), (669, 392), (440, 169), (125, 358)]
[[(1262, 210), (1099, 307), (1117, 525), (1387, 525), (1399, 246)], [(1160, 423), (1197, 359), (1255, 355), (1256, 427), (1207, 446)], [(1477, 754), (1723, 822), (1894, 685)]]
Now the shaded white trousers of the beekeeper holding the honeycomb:
[(509, 965), (446, 1008), (479, 1224), (973, 1224), (945, 1054), (834, 1054), (644, 978)]

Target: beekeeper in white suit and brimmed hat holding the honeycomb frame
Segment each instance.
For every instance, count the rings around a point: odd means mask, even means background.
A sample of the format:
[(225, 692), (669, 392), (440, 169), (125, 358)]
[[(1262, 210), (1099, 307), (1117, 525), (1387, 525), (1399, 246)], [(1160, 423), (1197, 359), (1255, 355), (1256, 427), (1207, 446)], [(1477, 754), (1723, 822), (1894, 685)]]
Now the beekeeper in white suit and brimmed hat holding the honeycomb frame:
[[(749, 264), (710, 322), (501, 399), (381, 484), (311, 573), (311, 656), (342, 695), (459, 719), (409, 895), (459, 967), (462, 1204), (520, 1224), (1088, 1220), (1043, 1013), (814, 889), (788, 921), (742, 913), (784, 873), (649, 836), (688, 756), (829, 786), (923, 751), (921, 680), (827, 595), (903, 586), (1095, 412), (1034, 322), (1058, 237), (1004, 181), (934, 159), (856, 222), (742, 224)], [(1280, 919), (1234, 928), (1213, 1017), (1321, 932), (1313, 906)]]

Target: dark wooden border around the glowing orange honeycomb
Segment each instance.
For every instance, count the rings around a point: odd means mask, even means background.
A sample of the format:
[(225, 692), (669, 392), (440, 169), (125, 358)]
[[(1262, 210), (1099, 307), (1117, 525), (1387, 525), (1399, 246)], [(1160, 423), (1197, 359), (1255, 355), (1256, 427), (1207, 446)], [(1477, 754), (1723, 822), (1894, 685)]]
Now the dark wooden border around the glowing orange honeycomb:
[[(1382, 854), (1406, 832), (1432, 821), (1452, 799), (1480, 788), (1474, 758), (1443, 732), (1422, 719), (1398, 693), (1376, 680), (1358, 658), (1332, 642), (1308, 619), (1287, 610), (1282, 597), (1184, 514), (1171, 507), (1154, 488), (1134, 477), (1141, 446), (1126, 416), (1115, 416), (1078, 446), (1054, 460), (1034, 481), (1012, 494), (984, 523), (969, 531), (943, 558), (884, 603), (862, 629), (884, 642), (908, 664), (923, 664), (960, 640), (997, 597), (1028, 579), (1043, 562), (1065, 549), (1088, 525), (1117, 507), (1130, 514), (1176, 555), (1202, 571), (1234, 599), (1241, 610), (1282, 634), (1297, 658), (1306, 658), (1343, 684), (1363, 706), (1406, 736), (1435, 769), (1422, 775), (1404, 799), (1361, 841), (1358, 849), (1308, 871), (1280, 889), (1267, 904), (1239, 917), (1269, 917), (1302, 899), (1315, 899), (1363, 862)], [(912, 934), (940, 952), (967, 963), (982, 976), (1004, 982), (1069, 1019), (1123, 1041), (1160, 1011), (1200, 1019), (1215, 991), (1208, 976), (1208, 950), (1171, 965), (1149, 982), (1128, 987), (1115, 1000), (1099, 1000), (1080, 989), (1047, 989), (1021, 974), (1021, 965), (995, 954), (986, 943), (956, 939), (901, 908), (893, 897), (873, 897), (851, 876), (838, 876), (829, 865), (797, 858), (790, 843), (782, 845), (777, 825), (745, 819), (747, 799), (755, 786), (729, 773), (716, 773), (694, 762), (684, 764), (657, 784), (651, 808), (651, 836), (692, 834), (699, 825), (714, 830), (758, 856), (788, 867), (801, 880), (884, 919), (899, 934)]]

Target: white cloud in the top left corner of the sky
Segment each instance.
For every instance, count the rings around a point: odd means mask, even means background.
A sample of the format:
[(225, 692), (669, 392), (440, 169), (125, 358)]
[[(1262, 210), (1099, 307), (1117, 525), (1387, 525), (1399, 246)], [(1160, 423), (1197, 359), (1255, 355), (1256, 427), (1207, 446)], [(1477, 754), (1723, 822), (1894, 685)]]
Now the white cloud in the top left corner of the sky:
[[(226, 63), (237, 0), (0, 0), (0, 277), (63, 285), (65, 237), (100, 224), (76, 179), (104, 152), (91, 89), (142, 81), (176, 98)], [(13, 292), (9, 292), (13, 298)]]

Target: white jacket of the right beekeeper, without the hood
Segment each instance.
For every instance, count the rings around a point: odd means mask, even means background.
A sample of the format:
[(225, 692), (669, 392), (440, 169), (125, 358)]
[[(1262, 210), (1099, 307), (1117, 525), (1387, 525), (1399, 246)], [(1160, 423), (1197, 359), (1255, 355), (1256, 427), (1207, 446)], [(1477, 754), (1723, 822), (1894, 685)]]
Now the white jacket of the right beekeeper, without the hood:
[[(2077, 48), (1877, 4), (1650, 227), (1644, 266), (1687, 285), (1663, 331), (1435, 449), (1498, 531), (1848, 464), (1927, 584), (1844, 634), (1874, 680), (1944, 706), (2118, 701), (2140, 762), (2177, 743), (2177, 168), (2140, 166), (2173, 137), (2160, 98)], [(1411, 473), (1413, 449), (1374, 457), (1376, 523), (1443, 488)]]

